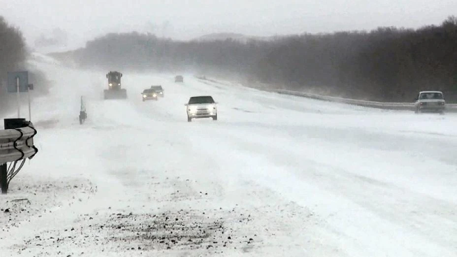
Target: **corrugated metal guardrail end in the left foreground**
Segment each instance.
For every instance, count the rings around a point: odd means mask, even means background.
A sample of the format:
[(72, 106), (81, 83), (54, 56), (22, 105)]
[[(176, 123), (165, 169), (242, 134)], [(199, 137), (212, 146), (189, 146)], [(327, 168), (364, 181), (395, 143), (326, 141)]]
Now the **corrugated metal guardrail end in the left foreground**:
[(28, 127), (0, 130), (0, 164), (23, 159), (32, 159), (38, 152), (33, 145), (36, 129)]

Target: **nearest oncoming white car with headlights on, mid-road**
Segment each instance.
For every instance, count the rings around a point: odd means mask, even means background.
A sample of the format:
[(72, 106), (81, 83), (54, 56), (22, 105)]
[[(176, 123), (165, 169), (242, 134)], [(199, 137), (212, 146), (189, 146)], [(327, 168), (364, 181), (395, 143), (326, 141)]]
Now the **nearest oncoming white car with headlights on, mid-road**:
[(192, 122), (193, 118), (213, 118), (217, 121), (217, 102), (212, 96), (192, 96), (187, 106), (187, 121)]

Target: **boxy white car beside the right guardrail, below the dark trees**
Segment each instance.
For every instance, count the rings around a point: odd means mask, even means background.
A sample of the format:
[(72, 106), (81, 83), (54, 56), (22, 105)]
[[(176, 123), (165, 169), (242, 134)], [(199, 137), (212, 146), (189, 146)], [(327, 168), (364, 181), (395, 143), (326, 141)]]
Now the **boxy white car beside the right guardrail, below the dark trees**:
[(422, 91), (416, 98), (416, 113), (438, 112), (444, 114), (446, 102), (440, 91)]

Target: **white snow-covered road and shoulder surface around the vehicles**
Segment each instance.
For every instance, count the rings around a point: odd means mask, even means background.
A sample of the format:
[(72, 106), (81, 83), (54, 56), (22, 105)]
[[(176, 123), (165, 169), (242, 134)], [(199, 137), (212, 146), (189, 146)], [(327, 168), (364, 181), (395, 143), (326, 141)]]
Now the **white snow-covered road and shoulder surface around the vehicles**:
[[(2, 257), (457, 256), (455, 114), (127, 71), (129, 98), (102, 100), (107, 71), (31, 64), (54, 86), (33, 100), (39, 153), (0, 195)], [(187, 122), (197, 95), (218, 121)]]

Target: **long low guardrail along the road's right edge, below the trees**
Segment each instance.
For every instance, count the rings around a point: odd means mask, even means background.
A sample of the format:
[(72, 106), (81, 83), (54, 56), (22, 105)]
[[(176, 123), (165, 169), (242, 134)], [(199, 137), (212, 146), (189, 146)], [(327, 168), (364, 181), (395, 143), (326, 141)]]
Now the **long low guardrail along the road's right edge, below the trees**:
[[(283, 94), (283, 95), (290, 95), (290, 96), (301, 96), (306, 98), (324, 100), (324, 101), (331, 101), (331, 102), (339, 102), (339, 103), (346, 103), (346, 104), (353, 104), (363, 107), (372, 107), (372, 108), (380, 108), (380, 109), (387, 109), (387, 110), (411, 110), (413, 111), (414, 103), (411, 102), (378, 102), (378, 101), (366, 101), (366, 100), (357, 100), (357, 99), (348, 99), (342, 97), (335, 97), (335, 96), (321, 96), (316, 94), (309, 94), (304, 92), (296, 92), (290, 90), (276, 90), (276, 93)], [(457, 104), (446, 104), (446, 111), (450, 112), (457, 112)]]

